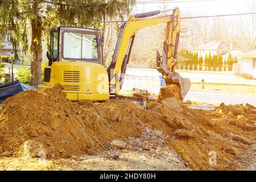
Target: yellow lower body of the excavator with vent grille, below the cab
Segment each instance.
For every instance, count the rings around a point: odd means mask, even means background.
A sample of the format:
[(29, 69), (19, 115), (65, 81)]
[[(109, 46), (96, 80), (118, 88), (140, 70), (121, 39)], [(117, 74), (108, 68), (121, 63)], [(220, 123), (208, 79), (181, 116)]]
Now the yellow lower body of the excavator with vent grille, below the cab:
[(39, 85), (45, 90), (59, 83), (71, 101), (109, 99), (109, 78), (105, 67), (97, 63), (56, 61), (52, 63), (49, 82)]

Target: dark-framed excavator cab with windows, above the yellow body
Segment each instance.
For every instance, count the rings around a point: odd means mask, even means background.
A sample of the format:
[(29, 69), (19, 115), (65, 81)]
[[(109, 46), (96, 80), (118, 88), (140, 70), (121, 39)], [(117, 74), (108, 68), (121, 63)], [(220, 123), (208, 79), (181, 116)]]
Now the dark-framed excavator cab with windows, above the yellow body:
[(103, 64), (99, 30), (56, 27), (51, 31), (49, 65), (54, 61), (79, 61)]

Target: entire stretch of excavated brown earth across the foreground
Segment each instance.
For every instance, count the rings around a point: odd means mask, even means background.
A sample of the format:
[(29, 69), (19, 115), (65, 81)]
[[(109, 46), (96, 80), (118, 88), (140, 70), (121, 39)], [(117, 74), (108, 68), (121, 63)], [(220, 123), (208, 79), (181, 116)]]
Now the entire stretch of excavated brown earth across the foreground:
[(1, 104), (0, 155), (5, 162), (42, 155), (51, 161), (97, 155), (118, 161), (123, 153), (144, 152), (168, 159), (166, 165), (182, 163), (175, 169), (255, 170), (254, 106), (189, 109), (176, 97), (162, 88), (146, 110), (121, 100), (71, 102), (61, 85), (30, 89)]

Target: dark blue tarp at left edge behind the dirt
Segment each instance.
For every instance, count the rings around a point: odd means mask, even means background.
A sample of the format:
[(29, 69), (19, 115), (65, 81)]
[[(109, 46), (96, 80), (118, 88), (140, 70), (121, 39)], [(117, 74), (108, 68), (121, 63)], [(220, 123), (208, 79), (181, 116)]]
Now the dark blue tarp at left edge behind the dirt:
[(27, 89), (38, 88), (37, 86), (30, 86), (22, 84), (17, 81), (9, 82), (7, 84), (0, 85), (0, 102), (3, 102), (7, 97), (11, 97), (16, 93), (23, 92)]

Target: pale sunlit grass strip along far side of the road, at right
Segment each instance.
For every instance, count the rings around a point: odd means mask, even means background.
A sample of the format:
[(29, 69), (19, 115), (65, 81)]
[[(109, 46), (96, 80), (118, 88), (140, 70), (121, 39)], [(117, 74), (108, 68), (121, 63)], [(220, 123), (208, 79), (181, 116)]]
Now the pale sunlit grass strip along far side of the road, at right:
[(256, 94), (256, 85), (205, 83), (202, 89), (201, 82), (192, 82), (190, 90), (253, 95)]

